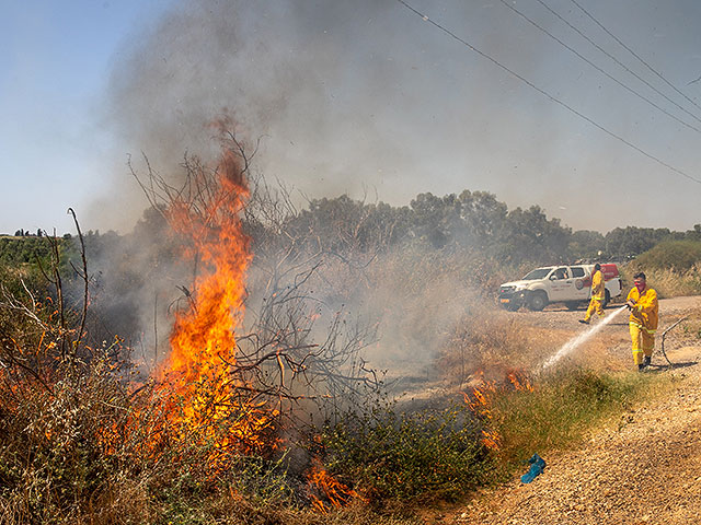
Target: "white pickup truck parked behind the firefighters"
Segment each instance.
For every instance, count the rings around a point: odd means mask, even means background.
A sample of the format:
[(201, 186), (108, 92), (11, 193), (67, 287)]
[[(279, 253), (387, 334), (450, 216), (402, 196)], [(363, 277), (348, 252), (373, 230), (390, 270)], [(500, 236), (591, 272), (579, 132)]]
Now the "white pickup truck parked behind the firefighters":
[[(519, 281), (505, 282), (499, 287), (499, 304), (512, 312), (521, 306), (541, 311), (550, 303), (565, 303), (570, 310), (589, 301), (591, 296), (591, 272), (594, 265), (545, 266), (536, 268)], [(606, 306), (618, 298), (623, 283), (614, 264), (601, 265), (606, 283)]]

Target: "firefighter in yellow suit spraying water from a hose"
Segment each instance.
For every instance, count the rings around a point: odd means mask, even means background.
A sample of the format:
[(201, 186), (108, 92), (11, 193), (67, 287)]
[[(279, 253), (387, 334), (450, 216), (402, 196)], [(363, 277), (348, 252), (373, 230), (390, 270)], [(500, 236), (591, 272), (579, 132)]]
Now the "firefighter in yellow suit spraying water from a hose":
[(659, 305), (657, 304), (657, 292), (647, 288), (645, 273), (642, 271), (635, 273), (633, 283), (635, 285), (629, 292), (625, 304), (631, 308), (629, 326), (633, 341), (633, 361), (637, 365), (637, 370), (642, 371), (650, 366), (655, 348)]

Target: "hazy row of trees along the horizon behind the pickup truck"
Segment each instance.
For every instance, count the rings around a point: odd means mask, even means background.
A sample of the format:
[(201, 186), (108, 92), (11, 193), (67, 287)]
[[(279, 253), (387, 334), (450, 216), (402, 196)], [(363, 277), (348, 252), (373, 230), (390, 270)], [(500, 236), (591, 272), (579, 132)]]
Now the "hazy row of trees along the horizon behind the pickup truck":
[[(509, 210), (505, 202), (486, 191), (464, 190), (437, 197), (417, 195), (409, 206), (368, 203), (342, 195), (311, 199), (297, 210), (286, 208), (285, 217), (272, 224), (265, 217), (249, 213), (244, 220), (253, 237), (254, 252), (294, 238), (298, 247), (327, 252), (377, 252), (422, 244), (435, 250), (469, 248), (508, 265), (559, 264), (575, 260), (629, 260), (663, 242), (701, 242), (701, 224), (676, 232), (667, 228), (616, 228), (606, 234), (573, 231), (560, 219), (548, 218), (537, 205)], [(139, 235), (158, 233), (163, 238), (159, 214), (147, 211), (137, 225)], [(24, 233), (24, 232), (23, 232)], [(114, 232), (85, 234), (89, 252), (102, 252), (117, 242)], [(74, 237), (73, 240), (74, 241)], [(62, 242), (71, 244), (71, 235)], [(21, 238), (0, 236), (0, 262), (9, 266), (45, 259), (49, 245), (41, 235)]]

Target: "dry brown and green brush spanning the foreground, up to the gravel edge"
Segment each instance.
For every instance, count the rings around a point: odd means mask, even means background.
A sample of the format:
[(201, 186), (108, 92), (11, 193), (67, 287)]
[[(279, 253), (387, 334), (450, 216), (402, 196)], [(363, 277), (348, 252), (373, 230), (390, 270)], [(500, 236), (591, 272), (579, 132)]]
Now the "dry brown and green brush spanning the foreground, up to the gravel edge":
[[(505, 372), (411, 410), (368, 390), (324, 424), (298, 428), (284, 448), (231, 455), (212, 470), (220, 422), (179, 438), (163, 418), (163, 394), (138, 378), (119, 340), (73, 345), (80, 315), (66, 312), (61, 328), (41, 272), (10, 272), (3, 288), (3, 523), (420, 523), (427, 504), (509, 479), (533, 452), (576, 446), (658, 381), (585, 370), (509, 380)], [(30, 292), (43, 298), (34, 308)], [(516, 351), (517, 340), (485, 325), (479, 340), (461, 343), (490, 359)]]

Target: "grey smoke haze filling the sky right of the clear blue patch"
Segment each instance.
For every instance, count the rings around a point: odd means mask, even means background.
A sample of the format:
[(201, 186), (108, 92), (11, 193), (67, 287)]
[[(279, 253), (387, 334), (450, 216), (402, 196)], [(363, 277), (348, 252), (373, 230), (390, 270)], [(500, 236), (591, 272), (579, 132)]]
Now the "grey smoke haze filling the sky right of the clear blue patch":
[[(560, 3), (553, 7), (562, 11)], [(622, 95), (499, 2), (416, 7), (614, 132), (653, 154), (664, 152), (656, 139), (660, 125), (668, 125), (664, 115)], [(542, 13), (521, 8), (563, 32)], [(652, 16), (644, 9), (635, 15), (643, 26)], [(583, 16), (573, 22), (582, 24)], [(612, 177), (617, 188), (628, 189), (641, 173), (656, 174), (645, 190), (631, 189), (641, 191), (634, 195), (643, 205), (667, 188), (654, 207), (643, 206), (636, 225), (659, 225), (657, 210), (673, 196), (696, 195), (689, 182), (577, 119), (399, 2), (198, 0), (182, 2), (138, 36), (113, 74), (110, 120), (125, 149), (118, 166), (126, 153), (143, 152), (161, 173), (175, 173), (185, 151), (210, 147), (205, 126), (227, 112), (239, 135), (252, 144), (261, 140), (257, 167), (310, 197), (367, 194), (404, 205), (423, 191), (483, 189), (510, 207), (538, 203), (575, 229), (605, 232), (630, 223), (620, 192), (607, 196)], [(687, 135), (673, 121), (665, 141), (674, 144), (667, 151), (675, 161), (686, 159), (675, 152), (686, 151)], [(124, 229), (143, 201), (126, 170), (116, 172), (116, 201), (101, 203), (100, 214), (110, 228)], [(593, 185), (604, 194), (595, 217), (583, 198)], [(125, 213), (129, 208), (134, 212)], [(662, 225), (683, 230), (698, 222), (692, 210), (678, 202), (674, 208), (677, 225)]]

